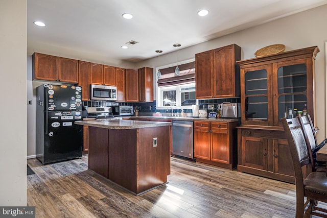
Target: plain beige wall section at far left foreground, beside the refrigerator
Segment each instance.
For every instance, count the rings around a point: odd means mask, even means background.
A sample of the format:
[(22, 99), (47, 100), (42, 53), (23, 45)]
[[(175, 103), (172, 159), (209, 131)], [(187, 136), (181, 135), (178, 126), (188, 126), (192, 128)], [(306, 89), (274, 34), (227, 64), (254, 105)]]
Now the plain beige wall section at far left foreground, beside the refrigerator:
[(0, 0), (0, 205), (27, 203), (27, 0)]

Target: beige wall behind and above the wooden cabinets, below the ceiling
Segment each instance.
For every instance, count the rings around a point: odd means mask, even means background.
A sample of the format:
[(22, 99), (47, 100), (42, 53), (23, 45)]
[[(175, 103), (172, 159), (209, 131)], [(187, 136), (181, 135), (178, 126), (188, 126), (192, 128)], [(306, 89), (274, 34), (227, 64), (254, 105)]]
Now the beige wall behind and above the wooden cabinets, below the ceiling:
[[(254, 58), (254, 52), (261, 47), (266, 45), (282, 43), (286, 45), (286, 51), (301, 49), (303, 47), (310, 47), (318, 45), (320, 53), (318, 53), (316, 58), (316, 126), (319, 127), (320, 131), (318, 133), (318, 140), (321, 141), (325, 139), (325, 53), (324, 53), (324, 43), (327, 41), (327, 28), (325, 28), (325, 20), (327, 20), (327, 5), (320, 6), (305, 12), (294, 14), (285, 18), (281, 18), (275, 21), (265, 23), (257, 27), (249, 28), (237, 33), (229, 34), (214, 40), (203, 42), (194, 46), (183, 48), (180, 47), (178, 50), (179, 62), (183, 60), (194, 59), (196, 53), (203, 51), (215, 49), (220, 46), (236, 43), (242, 47), (242, 59)], [(147, 61), (139, 62), (134, 66), (131, 63), (106, 63), (103, 58), (101, 61), (100, 57), (95, 57), (87, 54), (79, 54), (78, 56), (72, 51), (65, 51), (53, 48), (54, 51), (39, 51), (43, 53), (48, 53), (52, 55), (58, 55), (62, 57), (75, 58), (86, 61), (95, 61), (104, 64), (112, 64), (121, 67), (157, 67), (158, 59), (152, 58)], [(160, 45), (154, 48), (154, 50), (160, 49)], [(29, 51), (29, 56), (32, 54)], [(85, 57), (85, 58), (83, 58)], [(28, 58), (31, 61), (31, 58)], [(169, 65), (175, 63), (176, 54), (170, 53), (160, 55), (160, 65)], [(32, 67), (28, 65), (28, 77), (32, 74)], [(35, 94), (33, 94), (32, 86), (36, 86), (35, 82), (28, 81), (28, 98), (35, 99)], [(35, 103), (35, 101), (34, 101)], [(28, 114), (34, 116), (35, 106), (28, 108)], [(31, 157), (35, 154), (35, 118), (28, 120), (28, 155)]]

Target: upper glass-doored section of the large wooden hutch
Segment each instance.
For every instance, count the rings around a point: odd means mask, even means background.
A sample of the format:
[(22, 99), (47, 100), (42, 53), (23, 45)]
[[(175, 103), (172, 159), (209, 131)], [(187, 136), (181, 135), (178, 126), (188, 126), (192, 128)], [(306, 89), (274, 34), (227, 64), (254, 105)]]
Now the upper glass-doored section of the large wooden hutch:
[(306, 109), (314, 118), (317, 46), (238, 61), (242, 125), (283, 126), (280, 119)]

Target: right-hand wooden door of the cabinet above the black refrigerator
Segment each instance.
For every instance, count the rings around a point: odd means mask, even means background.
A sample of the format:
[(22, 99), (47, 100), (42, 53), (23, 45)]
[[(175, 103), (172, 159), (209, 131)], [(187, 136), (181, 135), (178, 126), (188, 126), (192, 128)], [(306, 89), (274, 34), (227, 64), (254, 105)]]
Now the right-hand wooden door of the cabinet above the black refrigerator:
[(78, 60), (58, 57), (58, 81), (78, 83)]

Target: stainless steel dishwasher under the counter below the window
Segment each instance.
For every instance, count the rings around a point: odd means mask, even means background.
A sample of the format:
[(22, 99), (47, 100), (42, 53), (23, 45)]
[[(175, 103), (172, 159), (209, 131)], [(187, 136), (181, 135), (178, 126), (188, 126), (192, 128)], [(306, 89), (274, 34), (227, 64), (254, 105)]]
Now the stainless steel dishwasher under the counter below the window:
[(173, 154), (194, 158), (193, 121), (173, 120)]

